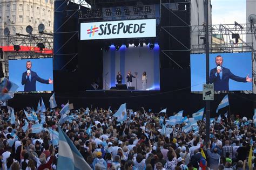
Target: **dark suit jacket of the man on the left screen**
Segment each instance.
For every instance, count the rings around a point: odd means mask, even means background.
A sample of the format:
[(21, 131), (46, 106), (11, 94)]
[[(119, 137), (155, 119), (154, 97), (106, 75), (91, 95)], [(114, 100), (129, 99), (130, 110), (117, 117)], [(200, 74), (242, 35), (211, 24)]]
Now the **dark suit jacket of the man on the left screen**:
[(49, 84), (49, 80), (42, 79), (36, 74), (36, 72), (31, 71), (31, 81), (29, 80), (29, 77), (26, 77), (26, 75), (26, 72), (22, 74), (22, 85), (25, 84), (24, 91), (26, 92), (36, 91), (36, 81), (39, 81), (44, 84)]

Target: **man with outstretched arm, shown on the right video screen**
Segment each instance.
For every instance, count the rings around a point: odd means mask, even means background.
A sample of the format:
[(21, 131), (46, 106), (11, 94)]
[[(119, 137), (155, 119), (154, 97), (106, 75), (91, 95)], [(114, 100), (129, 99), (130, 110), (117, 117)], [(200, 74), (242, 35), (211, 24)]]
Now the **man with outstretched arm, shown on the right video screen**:
[(252, 79), (247, 77), (239, 77), (231, 73), (230, 69), (223, 67), (223, 57), (221, 55), (216, 56), (215, 63), (216, 68), (211, 69), (210, 83), (214, 84), (215, 91), (228, 91), (228, 82), (230, 79), (238, 82), (252, 82)]

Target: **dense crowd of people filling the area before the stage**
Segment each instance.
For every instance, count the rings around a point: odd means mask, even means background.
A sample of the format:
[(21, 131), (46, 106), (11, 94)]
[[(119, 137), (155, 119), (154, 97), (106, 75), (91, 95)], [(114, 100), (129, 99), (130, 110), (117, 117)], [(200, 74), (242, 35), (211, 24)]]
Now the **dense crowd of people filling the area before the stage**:
[(56, 169), (58, 145), (54, 145), (50, 129), (58, 131), (60, 126), (92, 169), (256, 169), (255, 126), (246, 117), (216, 117), (206, 143), (204, 119), (185, 133), (188, 122), (170, 125), (171, 115), (164, 112), (129, 110), (126, 119), (118, 122), (110, 109), (80, 108), (70, 110), (69, 119), (62, 124), (59, 112), (44, 112), (42, 131), (32, 133), (32, 125), (42, 123), (40, 114), (35, 121), (28, 120), (24, 110), (16, 111), (11, 124), (10, 111), (2, 108), (0, 167)]

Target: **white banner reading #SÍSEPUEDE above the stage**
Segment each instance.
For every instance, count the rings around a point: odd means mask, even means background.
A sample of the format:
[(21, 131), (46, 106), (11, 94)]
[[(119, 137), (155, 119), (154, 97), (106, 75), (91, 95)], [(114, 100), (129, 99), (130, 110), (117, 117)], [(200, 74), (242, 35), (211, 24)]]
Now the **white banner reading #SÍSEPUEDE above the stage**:
[(81, 23), (80, 40), (156, 37), (156, 19)]

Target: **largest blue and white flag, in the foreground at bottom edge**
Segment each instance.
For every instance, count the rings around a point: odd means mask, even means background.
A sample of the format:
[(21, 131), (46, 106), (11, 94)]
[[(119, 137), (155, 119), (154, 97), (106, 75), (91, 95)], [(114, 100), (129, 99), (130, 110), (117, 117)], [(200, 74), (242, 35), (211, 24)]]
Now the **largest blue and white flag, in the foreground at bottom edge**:
[(59, 127), (59, 155), (57, 170), (82, 170), (91, 169), (90, 165), (84, 160), (76, 146)]

